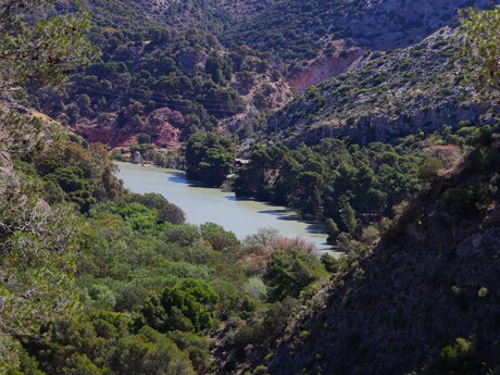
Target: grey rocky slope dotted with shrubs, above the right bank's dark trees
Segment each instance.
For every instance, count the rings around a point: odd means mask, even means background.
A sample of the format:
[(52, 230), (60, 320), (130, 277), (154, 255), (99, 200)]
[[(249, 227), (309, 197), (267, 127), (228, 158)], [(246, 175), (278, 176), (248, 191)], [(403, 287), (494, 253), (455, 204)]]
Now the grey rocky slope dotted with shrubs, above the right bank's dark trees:
[(480, 123), (489, 109), (463, 83), (453, 33), (424, 41), (309, 88), (270, 118), (271, 138), (298, 145), (323, 138), (387, 141), (460, 121)]

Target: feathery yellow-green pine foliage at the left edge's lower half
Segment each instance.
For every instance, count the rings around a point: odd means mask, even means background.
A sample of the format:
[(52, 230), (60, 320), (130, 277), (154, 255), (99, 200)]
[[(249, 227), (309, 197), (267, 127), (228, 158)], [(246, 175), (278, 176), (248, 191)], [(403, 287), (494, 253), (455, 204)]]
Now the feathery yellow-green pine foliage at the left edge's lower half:
[[(36, 335), (75, 303), (71, 275), (83, 223), (67, 205), (43, 205), (40, 185), (23, 175), (0, 180), (0, 335), (7, 339)], [(0, 346), (0, 363), (10, 350)]]

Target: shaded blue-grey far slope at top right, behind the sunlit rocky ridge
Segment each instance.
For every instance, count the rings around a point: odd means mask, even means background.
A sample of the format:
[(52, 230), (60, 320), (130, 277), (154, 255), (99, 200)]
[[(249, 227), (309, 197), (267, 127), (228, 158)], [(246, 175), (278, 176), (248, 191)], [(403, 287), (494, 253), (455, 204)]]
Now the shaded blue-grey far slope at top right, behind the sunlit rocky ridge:
[(274, 50), (285, 59), (314, 57), (326, 35), (390, 50), (417, 42), (457, 21), (461, 8), (495, 3), (498, 1), (279, 0), (250, 13), (223, 34), (222, 40)]

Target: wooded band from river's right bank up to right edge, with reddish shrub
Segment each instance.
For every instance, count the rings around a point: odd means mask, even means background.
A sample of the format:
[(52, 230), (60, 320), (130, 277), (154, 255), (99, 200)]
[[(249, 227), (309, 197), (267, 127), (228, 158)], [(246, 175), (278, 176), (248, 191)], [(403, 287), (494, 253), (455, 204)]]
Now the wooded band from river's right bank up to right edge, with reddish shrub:
[(483, 132), (491, 127), (462, 122), (457, 130), (420, 132), (392, 145), (323, 139), (296, 149), (258, 146), (234, 188), (238, 196), (285, 204), (325, 222), (330, 242), (340, 249), (346, 236), (370, 245), (438, 172), (458, 165)]

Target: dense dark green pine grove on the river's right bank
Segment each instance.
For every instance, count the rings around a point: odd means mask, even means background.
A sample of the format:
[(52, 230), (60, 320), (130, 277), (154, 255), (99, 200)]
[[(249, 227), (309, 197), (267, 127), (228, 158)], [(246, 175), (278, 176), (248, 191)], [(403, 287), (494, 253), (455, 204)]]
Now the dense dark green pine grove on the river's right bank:
[[(257, 147), (238, 171), (238, 196), (253, 196), (325, 220), (329, 240), (340, 232), (361, 234), (360, 225), (391, 217), (391, 208), (417, 190), (420, 154), (398, 154), (373, 142), (360, 148), (324, 139), (315, 147)], [(361, 220), (360, 220), (361, 218)]]

